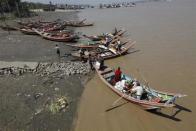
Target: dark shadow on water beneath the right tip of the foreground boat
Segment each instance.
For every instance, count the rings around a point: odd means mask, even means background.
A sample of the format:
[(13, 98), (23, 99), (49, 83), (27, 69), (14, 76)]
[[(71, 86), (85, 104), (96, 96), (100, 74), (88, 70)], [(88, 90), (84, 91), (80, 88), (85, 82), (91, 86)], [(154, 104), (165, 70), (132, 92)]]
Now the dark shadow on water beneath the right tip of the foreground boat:
[[(175, 110), (175, 109), (177, 109), (177, 110)], [(182, 120), (179, 119), (179, 118), (176, 118), (175, 116), (178, 113), (180, 113), (181, 111), (192, 112), (190, 109), (185, 108), (183, 106), (180, 106), (178, 104), (176, 104), (176, 106), (172, 109), (172, 115), (165, 114), (165, 113), (161, 112), (161, 110), (150, 110), (148, 112), (150, 112), (152, 114), (156, 114), (156, 115), (161, 116), (161, 117), (164, 117), (164, 118), (168, 118), (168, 119), (174, 120), (176, 122), (180, 122)]]

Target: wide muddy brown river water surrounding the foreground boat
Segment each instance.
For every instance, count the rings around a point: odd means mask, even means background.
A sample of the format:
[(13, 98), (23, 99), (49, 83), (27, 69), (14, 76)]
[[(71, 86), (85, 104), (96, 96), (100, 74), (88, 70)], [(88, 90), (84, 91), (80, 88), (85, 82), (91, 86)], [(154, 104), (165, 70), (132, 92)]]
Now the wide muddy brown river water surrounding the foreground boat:
[[(80, 16), (95, 22), (94, 27), (80, 28), (93, 35), (123, 27), (127, 36), (137, 43), (136, 51), (108, 60), (107, 65), (133, 75), (155, 89), (187, 94), (177, 100), (184, 108), (164, 109), (159, 114), (150, 113), (138, 106), (124, 105), (105, 112), (119, 97), (98, 78), (86, 85), (82, 95), (76, 131), (194, 131), (196, 130), (196, 6), (193, 0), (150, 2), (134, 8), (89, 9)], [(121, 100), (119, 104), (125, 101)], [(174, 117), (171, 117), (172, 115)]]

